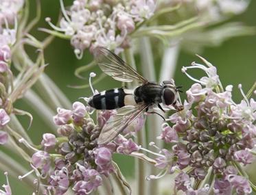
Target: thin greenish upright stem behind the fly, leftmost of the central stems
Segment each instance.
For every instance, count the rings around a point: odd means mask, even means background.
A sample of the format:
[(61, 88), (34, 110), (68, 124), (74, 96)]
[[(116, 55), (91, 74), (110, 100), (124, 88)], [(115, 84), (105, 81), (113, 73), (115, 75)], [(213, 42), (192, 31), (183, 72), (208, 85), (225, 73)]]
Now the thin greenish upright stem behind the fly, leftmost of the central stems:
[[(124, 56), (126, 58), (126, 62), (132, 66), (135, 70), (135, 58), (130, 49), (126, 49), (124, 51)], [(133, 83), (134, 87), (138, 86), (137, 81)], [(146, 148), (146, 136), (145, 136), (145, 129), (141, 129), (141, 131), (138, 131), (137, 133), (137, 143), (141, 145), (142, 147)], [(141, 161), (140, 159), (135, 159), (135, 170), (136, 170), (136, 177), (137, 177), (137, 194), (138, 195), (146, 195), (146, 162)]]

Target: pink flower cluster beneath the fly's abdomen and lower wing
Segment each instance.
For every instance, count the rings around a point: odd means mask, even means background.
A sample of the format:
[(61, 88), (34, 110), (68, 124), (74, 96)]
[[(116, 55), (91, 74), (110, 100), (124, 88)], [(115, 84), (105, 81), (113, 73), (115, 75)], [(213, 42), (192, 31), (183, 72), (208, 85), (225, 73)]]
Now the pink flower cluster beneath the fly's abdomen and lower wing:
[(54, 122), (59, 126), (60, 137), (45, 133), (40, 144), (43, 150), (34, 148), (36, 152), (32, 155), (32, 172), (38, 172), (47, 183), (45, 194), (64, 194), (69, 187), (75, 194), (91, 194), (102, 185), (102, 175), (108, 177), (115, 170), (113, 153), (130, 155), (139, 150), (132, 139), (122, 135), (114, 142), (98, 145), (97, 138), (102, 127), (116, 112), (100, 112), (95, 125), (89, 117), (88, 109), (80, 102), (73, 103), (72, 110), (58, 108)]

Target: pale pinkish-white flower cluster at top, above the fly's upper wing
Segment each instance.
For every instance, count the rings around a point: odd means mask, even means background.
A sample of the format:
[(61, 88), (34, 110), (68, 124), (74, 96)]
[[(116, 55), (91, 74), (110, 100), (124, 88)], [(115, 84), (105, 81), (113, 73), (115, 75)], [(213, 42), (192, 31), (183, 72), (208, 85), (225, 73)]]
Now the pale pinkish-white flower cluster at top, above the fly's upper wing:
[(97, 46), (120, 49), (129, 46), (128, 34), (135, 30), (138, 23), (150, 18), (155, 9), (154, 0), (75, 0), (68, 11), (62, 0), (63, 18), (60, 27), (54, 26), (50, 18), (46, 21), (56, 31), (69, 36), (75, 54), (82, 57), (84, 49)]

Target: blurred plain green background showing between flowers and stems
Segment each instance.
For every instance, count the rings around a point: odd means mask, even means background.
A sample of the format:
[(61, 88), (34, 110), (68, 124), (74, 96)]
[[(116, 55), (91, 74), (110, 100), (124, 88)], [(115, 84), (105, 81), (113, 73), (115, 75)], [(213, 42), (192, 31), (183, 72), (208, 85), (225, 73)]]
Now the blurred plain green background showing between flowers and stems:
[[(71, 5), (72, 3), (71, 0), (64, 2), (65, 5)], [(33, 18), (35, 16), (35, 2), (34, 0), (31, 0), (30, 3), (30, 17)], [(42, 16), (40, 23), (36, 25), (36, 28), (45, 27), (50, 29), (44, 18), (49, 16), (52, 18), (53, 23), (57, 21), (60, 11), (59, 1), (43, 0), (41, 3)], [(243, 14), (233, 17), (231, 21), (240, 21), (245, 25), (256, 27), (256, 1), (251, 1), (248, 9)], [(46, 34), (38, 31), (36, 28), (34, 28), (32, 34), (39, 40), (45, 38)], [(27, 48), (27, 51), (30, 52), (30, 55), (35, 54), (33, 48)], [(256, 36), (232, 38), (225, 41), (220, 47), (205, 48), (205, 51), (200, 53), (200, 55), (205, 57), (205, 59), (218, 68), (218, 75), (220, 75), (220, 79), (224, 86), (228, 84), (232, 84), (234, 86), (233, 97), (235, 101), (242, 99), (240, 92), (237, 90), (237, 85), (239, 83), (242, 83), (244, 91), (247, 92), (256, 81)], [(161, 60), (161, 57), (156, 57), (156, 59)], [(81, 96), (90, 96), (91, 90), (89, 88), (74, 89), (67, 86), (79, 86), (88, 83), (87, 79), (78, 79), (73, 73), (75, 68), (88, 64), (91, 60), (92, 57), (89, 53), (84, 53), (82, 60), (76, 59), (69, 41), (55, 38), (45, 50), (45, 61), (49, 63), (49, 66), (45, 69), (45, 73), (54, 80), (71, 102), (78, 101), (78, 98)], [(190, 53), (181, 51), (178, 56), (178, 64), (174, 79), (176, 84), (183, 86), (184, 91), (191, 86), (192, 81), (181, 73), (181, 67), (188, 66), (194, 61), (200, 62), (196, 55), (192, 55)], [(161, 62), (157, 61), (155, 64), (161, 64)], [(156, 65), (156, 69), (159, 69), (159, 65)], [(92, 71), (100, 73), (100, 70), (97, 67), (93, 68)], [(87, 75), (89, 75), (89, 73)], [(101, 91), (119, 86), (121, 86), (121, 83), (114, 81), (110, 77), (105, 77), (105, 79), (100, 83), (94, 85), (94, 88)], [(39, 144), (43, 133), (47, 132), (47, 125), (45, 125), (43, 120), (36, 116), (30, 105), (27, 105), (24, 101), (18, 101), (16, 103), (16, 107), (19, 109), (25, 109), (33, 114), (34, 120), (32, 127), (29, 130), (29, 134), (31, 135), (32, 140), (34, 140), (36, 144)], [(28, 119), (25, 116), (19, 117), (19, 119), (23, 123), (24, 127), (27, 127), (29, 123)], [(132, 177), (134, 174), (134, 171), (132, 171), (134, 170), (134, 166), (132, 164), (133, 159), (123, 156), (116, 156), (115, 158), (118, 159), (117, 161), (123, 162), (121, 164), (119, 163), (121, 170), (124, 170), (124, 173), (128, 177)], [(19, 157), (16, 157), (16, 159), (19, 160)], [(26, 167), (30, 169), (27, 164)], [(5, 183), (3, 172), (0, 174), (0, 183)], [(10, 183), (13, 194), (32, 194), (26, 190), (26, 187), (21, 181), (10, 178)]]

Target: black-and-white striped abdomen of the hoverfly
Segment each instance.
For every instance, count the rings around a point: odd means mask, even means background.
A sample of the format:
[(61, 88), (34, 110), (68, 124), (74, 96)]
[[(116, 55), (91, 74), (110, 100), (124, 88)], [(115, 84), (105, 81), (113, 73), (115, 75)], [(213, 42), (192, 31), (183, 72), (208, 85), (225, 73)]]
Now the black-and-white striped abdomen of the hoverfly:
[(88, 104), (95, 109), (116, 109), (124, 105), (134, 105), (135, 99), (132, 90), (116, 88), (95, 94)]

